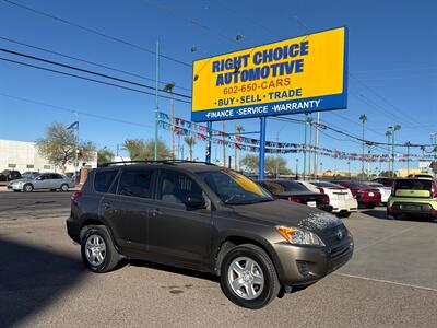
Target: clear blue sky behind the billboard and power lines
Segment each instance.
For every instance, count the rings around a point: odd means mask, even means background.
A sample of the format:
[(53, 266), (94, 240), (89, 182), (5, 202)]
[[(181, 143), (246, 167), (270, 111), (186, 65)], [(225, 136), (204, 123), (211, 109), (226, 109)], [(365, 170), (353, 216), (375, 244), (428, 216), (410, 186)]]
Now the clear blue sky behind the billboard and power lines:
[[(324, 113), (322, 121), (359, 134), (358, 117), (366, 114), (367, 139), (374, 141), (386, 141), (387, 126), (394, 124), (402, 126), (397, 133), (399, 142), (429, 143), (429, 133), (437, 131), (435, 1), (13, 1), (151, 50), (160, 40), (164, 55), (184, 62), (345, 25), (350, 28), (349, 109)], [(155, 75), (155, 61), (151, 54), (37, 15), (3, 0), (0, 0), (0, 37), (150, 79)], [(243, 42), (235, 40), (238, 34), (244, 36)], [(192, 46), (196, 46), (197, 52), (190, 51)], [(0, 47), (153, 85), (151, 81), (3, 39), (0, 39)], [(7, 54), (0, 57), (17, 59)], [(162, 59), (161, 80), (174, 81), (176, 86), (184, 87), (175, 89), (175, 92), (190, 94), (186, 90), (191, 87), (189, 67)], [(69, 110), (4, 95), (81, 112), (81, 137), (98, 147), (115, 150), (117, 143), (122, 143), (125, 139), (153, 137), (153, 96), (0, 61), (0, 139), (35, 140), (54, 121), (70, 124), (75, 120)], [(168, 101), (161, 99), (160, 106), (161, 110), (168, 112)], [(189, 119), (189, 104), (176, 103), (175, 110), (177, 116)], [(259, 128), (258, 119), (238, 124), (247, 131)], [(221, 124), (214, 124), (214, 128), (220, 127)], [(234, 128), (234, 122), (227, 122), (227, 127)], [(284, 142), (303, 142), (303, 130), (300, 125), (268, 120), (267, 139), (275, 140), (279, 133)], [(160, 131), (160, 134), (169, 140), (169, 132)], [(321, 134), (320, 144), (361, 152), (359, 144), (333, 132)], [(199, 142), (194, 156), (203, 159), (203, 151), (204, 143)], [(232, 150), (229, 152), (233, 153)], [(221, 149), (216, 153), (221, 159)], [(214, 147), (212, 154), (214, 157)], [(286, 157), (294, 167), (296, 156)], [(329, 157), (321, 161), (323, 168), (347, 168), (346, 161)], [(359, 167), (359, 162), (352, 165), (352, 169)]]

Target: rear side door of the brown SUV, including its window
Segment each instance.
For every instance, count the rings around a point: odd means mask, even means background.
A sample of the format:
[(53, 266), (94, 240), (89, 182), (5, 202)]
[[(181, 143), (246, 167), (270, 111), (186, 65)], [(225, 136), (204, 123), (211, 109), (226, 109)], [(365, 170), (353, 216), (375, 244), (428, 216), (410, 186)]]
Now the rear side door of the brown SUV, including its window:
[[(125, 168), (118, 186), (111, 187), (101, 201), (99, 213), (108, 222), (116, 243), (129, 254), (144, 256), (147, 250), (149, 212), (155, 206), (152, 168)], [(98, 184), (98, 173), (95, 180)], [(102, 180), (103, 181), (103, 180)]]

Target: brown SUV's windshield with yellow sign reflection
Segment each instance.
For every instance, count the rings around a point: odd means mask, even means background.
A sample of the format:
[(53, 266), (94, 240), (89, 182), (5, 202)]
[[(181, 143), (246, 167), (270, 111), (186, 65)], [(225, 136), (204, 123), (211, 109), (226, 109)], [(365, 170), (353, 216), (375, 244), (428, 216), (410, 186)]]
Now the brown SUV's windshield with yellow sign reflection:
[(199, 172), (198, 175), (227, 204), (271, 201), (273, 198), (251, 179), (233, 171)]

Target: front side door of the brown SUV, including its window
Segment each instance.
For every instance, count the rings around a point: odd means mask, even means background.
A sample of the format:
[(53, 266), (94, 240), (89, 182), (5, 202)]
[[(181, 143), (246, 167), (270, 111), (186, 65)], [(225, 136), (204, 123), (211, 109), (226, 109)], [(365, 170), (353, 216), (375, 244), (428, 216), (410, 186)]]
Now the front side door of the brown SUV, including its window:
[(163, 169), (156, 188), (156, 204), (149, 221), (149, 246), (158, 261), (208, 268), (213, 231), (210, 206), (189, 209), (188, 195), (204, 197), (199, 184), (179, 171)]

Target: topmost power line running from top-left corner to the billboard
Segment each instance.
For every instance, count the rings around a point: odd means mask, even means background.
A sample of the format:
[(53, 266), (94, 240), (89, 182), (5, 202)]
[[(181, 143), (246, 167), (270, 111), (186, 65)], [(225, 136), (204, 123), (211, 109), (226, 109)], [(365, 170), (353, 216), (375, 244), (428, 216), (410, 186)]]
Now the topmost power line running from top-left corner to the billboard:
[[(88, 33), (98, 35), (98, 36), (104, 37), (104, 38), (106, 38), (106, 39), (110, 39), (110, 40), (113, 40), (113, 42), (117, 42), (117, 43), (123, 44), (123, 45), (126, 45), (126, 46), (135, 48), (135, 49), (138, 49), (138, 50), (141, 50), (141, 51), (144, 51), (144, 52), (147, 52), (147, 54), (151, 54), (151, 55), (156, 55), (156, 52), (153, 51), (153, 50), (151, 50), (151, 49), (147, 49), (147, 48), (144, 48), (144, 47), (142, 47), (142, 46), (139, 46), (139, 45), (132, 44), (132, 43), (130, 43), (130, 42), (123, 40), (123, 39), (121, 39), (121, 38), (119, 38), (119, 37), (115, 37), (115, 36), (111, 36), (111, 35), (108, 35), (108, 34), (105, 34), (105, 33), (102, 33), (102, 32), (98, 32), (97, 30), (94, 30), (94, 28), (91, 28), (91, 27), (86, 27), (86, 26), (80, 25), (80, 24), (74, 23), (74, 22), (72, 22), (72, 21), (68, 21), (68, 20), (58, 17), (58, 16), (55, 16), (55, 15), (52, 15), (52, 14), (49, 14), (49, 13), (46, 13), (46, 12), (43, 12), (43, 11), (33, 9), (33, 8), (31, 8), (31, 7), (26, 7), (26, 5), (24, 5), (24, 4), (21, 4), (21, 3), (14, 2), (14, 1), (3, 0), (3, 2), (7, 2), (8, 4), (12, 4), (12, 5), (15, 5), (15, 7), (21, 8), (21, 9), (24, 9), (24, 10), (27, 10), (27, 11), (33, 12), (33, 13), (35, 13), (35, 14), (38, 14), (38, 15), (42, 15), (42, 16), (51, 19), (51, 20), (54, 20), (54, 21), (57, 21), (57, 22), (60, 22), (60, 23), (63, 23), (63, 24), (67, 24), (67, 25), (70, 25), (70, 26), (74, 26), (74, 27), (76, 27), (76, 28), (80, 28), (80, 30), (82, 30), (82, 31), (85, 31), (85, 32), (88, 32)], [(166, 56), (166, 55), (160, 54), (160, 57), (162, 57), (162, 58), (164, 58), (164, 59), (167, 59), (167, 60), (169, 60), (169, 61), (173, 61), (173, 62), (182, 65), (182, 66), (185, 66), (185, 67), (191, 68), (191, 65), (190, 65), (190, 63), (185, 62), (185, 61), (181, 61), (181, 60), (176, 59), (176, 58), (173, 58), (173, 57), (170, 57), (170, 56)]]

